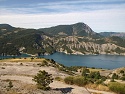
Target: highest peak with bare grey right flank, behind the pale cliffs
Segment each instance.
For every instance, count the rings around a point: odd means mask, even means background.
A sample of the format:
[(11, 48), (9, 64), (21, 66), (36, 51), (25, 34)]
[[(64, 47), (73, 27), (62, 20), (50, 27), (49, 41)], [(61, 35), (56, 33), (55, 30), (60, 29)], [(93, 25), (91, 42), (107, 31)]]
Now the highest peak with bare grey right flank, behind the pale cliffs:
[(99, 34), (94, 32), (88, 25), (84, 23), (76, 23), (72, 25), (58, 25), (51, 28), (39, 29), (51, 35), (64, 35), (64, 36), (86, 36), (86, 37), (100, 37)]

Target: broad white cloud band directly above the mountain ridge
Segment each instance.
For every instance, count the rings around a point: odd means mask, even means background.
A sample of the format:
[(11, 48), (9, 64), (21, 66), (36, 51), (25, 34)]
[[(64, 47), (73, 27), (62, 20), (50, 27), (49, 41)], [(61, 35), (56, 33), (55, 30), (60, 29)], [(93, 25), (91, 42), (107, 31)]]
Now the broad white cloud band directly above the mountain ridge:
[(54, 14), (13, 14), (1, 15), (1, 23), (9, 23), (16, 27), (43, 28), (60, 24), (84, 22), (94, 31), (125, 32), (125, 10), (101, 10), (92, 12), (72, 12)]

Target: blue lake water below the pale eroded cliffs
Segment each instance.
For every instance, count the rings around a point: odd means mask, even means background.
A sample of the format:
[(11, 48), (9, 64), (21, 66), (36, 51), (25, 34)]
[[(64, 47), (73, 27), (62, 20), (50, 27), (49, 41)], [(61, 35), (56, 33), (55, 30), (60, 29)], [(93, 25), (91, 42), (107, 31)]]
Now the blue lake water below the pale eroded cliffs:
[[(24, 54), (21, 57), (28, 57), (28, 55)], [(95, 56), (95, 55), (66, 55), (64, 53), (55, 53), (53, 55), (41, 56), (41, 57), (54, 59), (56, 62), (64, 64), (65, 66), (87, 66), (87, 67), (105, 68), (105, 69), (125, 67), (125, 56), (119, 56), (119, 55)]]

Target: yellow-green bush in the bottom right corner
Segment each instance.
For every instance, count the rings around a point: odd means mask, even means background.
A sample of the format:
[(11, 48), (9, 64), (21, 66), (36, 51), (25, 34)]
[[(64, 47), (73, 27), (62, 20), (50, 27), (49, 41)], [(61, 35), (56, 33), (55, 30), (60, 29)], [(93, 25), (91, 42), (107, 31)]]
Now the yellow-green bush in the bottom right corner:
[(112, 82), (109, 84), (109, 89), (117, 94), (125, 94), (125, 84)]

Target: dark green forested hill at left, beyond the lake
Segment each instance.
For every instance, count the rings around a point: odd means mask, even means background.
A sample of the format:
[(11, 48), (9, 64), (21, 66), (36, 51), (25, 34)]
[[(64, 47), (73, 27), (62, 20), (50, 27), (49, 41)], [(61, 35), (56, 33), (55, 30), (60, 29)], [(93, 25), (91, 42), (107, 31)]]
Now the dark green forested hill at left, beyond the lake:
[(4, 27), (4, 29), (5, 31), (0, 31), (0, 55), (51, 54), (55, 51), (49, 45), (49, 41), (44, 40), (46, 35), (42, 31), (22, 28), (14, 28), (10, 31), (8, 27)]

